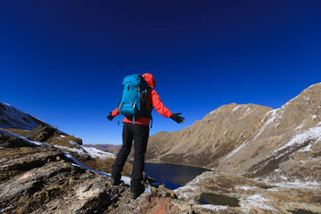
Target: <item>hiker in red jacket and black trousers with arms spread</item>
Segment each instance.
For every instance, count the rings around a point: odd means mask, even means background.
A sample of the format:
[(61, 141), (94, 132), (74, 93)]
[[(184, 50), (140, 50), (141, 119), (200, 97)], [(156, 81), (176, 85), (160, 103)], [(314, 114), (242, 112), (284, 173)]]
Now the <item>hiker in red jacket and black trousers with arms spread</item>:
[[(130, 75), (128, 77), (132, 77), (135, 75)], [(128, 78), (127, 77), (127, 78)], [(136, 88), (130, 89), (127, 78), (124, 78), (123, 86), (124, 86), (124, 92), (130, 93), (133, 91), (136, 91)], [(141, 111), (143, 111), (142, 116), (136, 118), (134, 117), (127, 117), (123, 120), (123, 130), (122, 130), (122, 146), (121, 149), (117, 155), (115, 163), (112, 165), (112, 172), (111, 172), (111, 183), (112, 185), (119, 185), (123, 183), (123, 181), (120, 180), (121, 178), (121, 171), (125, 165), (125, 162), (128, 159), (128, 154), (130, 153), (132, 143), (134, 140), (134, 163), (133, 163), (133, 172), (131, 174), (131, 198), (136, 199), (140, 194), (144, 193), (144, 185), (142, 184), (143, 181), (143, 171), (144, 171), (144, 154), (146, 152), (147, 148), (147, 142), (149, 137), (149, 125), (150, 120), (152, 119), (152, 107), (158, 111), (162, 116), (166, 118), (173, 119), (177, 123), (183, 123), (184, 118), (179, 116), (181, 113), (172, 113), (167, 109), (163, 103), (161, 103), (161, 98), (157, 94), (157, 92), (153, 89), (154, 86), (156, 86), (156, 81), (152, 77), (152, 74), (145, 73), (142, 76), (136, 75), (135, 78), (141, 78), (139, 80), (142, 83), (146, 84), (146, 89), (143, 90), (143, 92), (140, 92), (141, 94), (139, 101), (143, 100), (142, 94), (144, 94), (144, 91), (147, 92), (145, 95), (145, 102), (143, 102), (143, 106), (141, 106)], [(147, 83), (146, 83), (147, 82)], [(128, 85), (126, 85), (128, 84)], [(148, 84), (148, 86), (147, 86)], [(131, 86), (131, 85), (130, 85)], [(128, 90), (128, 92), (125, 92), (125, 90)], [(123, 98), (122, 98), (123, 99)], [(128, 104), (129, 105), (129, 104)], [(130, 108), (133, 105), (132, 102), (130, 102)], [(125, 108), (125, 105), (120, 102), (119, 107), (117, 107), (114, 111), (110, 111), (110, 115), (107, 116), (107, 119), (112, 120), (115, 116), (119, 115), (120, 112), (125, 112), (125, 110), (120, 110), (121, 108)], [(124, 114), (124, 113), (123, 113)]]

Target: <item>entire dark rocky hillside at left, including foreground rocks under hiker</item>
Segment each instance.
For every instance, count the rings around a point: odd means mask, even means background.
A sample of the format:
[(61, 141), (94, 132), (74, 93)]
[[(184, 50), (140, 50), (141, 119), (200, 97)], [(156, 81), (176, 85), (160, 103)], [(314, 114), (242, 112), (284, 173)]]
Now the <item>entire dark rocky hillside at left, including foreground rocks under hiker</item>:
[[(130, 200), (129, 177), (111, 185), (114, 154), (1, 104), (0, 213), (194, 213), (148, 179), (146, 193)], [(130, 173), (126, 163), (123, 175)]]

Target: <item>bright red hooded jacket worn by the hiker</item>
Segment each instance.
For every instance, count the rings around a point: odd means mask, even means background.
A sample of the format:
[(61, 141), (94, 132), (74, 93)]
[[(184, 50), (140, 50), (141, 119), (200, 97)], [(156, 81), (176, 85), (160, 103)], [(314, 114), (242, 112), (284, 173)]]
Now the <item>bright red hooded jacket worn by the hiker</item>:
[[(157, 92), (153, 89), (154, 86), (156, 86), (156, 80), (152, 77), (152, 74), (145, 73), (143, 74), (143, 78), (147, 81), (148, 86), (152, 87), (152, 89), (147, 90), (147, 106), (152, 106), (154, 109), (159, 112), (162, 116), (169, 118), (172, 116), (172, 112), (169, 111), (168, 108), (165, 107), (163, 103), (161, 103), (160, 95), (157, 94)], [(114, 111), (111, 112), (111, 116), (117, 116), (119, 115), (119, 111), (117, 111), (118, 108), (116, 108)], [(133, 123), (133, 119), (125, 118), (123, 122)], [(144, 126), (149, 126), (150, 119), (145, 117), (140, 117), (135, 119), (135, 123), (141, 124)]]

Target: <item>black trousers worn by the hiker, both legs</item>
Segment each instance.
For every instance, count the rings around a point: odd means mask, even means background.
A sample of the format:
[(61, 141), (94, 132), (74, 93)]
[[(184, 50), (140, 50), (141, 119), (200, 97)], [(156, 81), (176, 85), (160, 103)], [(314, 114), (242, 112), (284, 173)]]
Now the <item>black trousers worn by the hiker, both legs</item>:
[(138, 192), (141, 188), (144, 187), (144, 185), (142, 184), (144, 171), (144, 154), (147, 149), (148, 137), (148, 126), (124, 123), (122, 132), (123, 144), (117, 155), (115, 163), (112, 165), (111, 177), (115, 180), (120, 179), (121, 171), (125, 165), (126, 160), (128, 159), (128, 154), (130, 153), (134, 140), (135, 154), (133, 172), (131, 174), (132, 180), (130, 182), (132, 192)]

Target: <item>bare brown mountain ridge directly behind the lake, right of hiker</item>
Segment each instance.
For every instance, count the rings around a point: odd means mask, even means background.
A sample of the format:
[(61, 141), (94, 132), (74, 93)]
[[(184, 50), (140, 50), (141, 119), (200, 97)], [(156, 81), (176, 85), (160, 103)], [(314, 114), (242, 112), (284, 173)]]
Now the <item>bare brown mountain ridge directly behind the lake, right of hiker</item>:
[(181, 131), (150, 136), (146, 158), (212, 168), (253, 136), (260, 120), (271, 110), (255, 104), (224, 105)]

